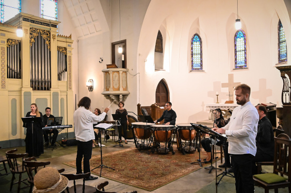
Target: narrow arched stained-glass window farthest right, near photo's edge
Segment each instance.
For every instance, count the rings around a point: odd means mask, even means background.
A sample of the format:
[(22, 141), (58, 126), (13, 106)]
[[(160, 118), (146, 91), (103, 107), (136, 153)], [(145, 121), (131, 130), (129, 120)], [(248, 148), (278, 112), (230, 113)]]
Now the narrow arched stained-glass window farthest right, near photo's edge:
[(278, 62), (287, 61), (287, 44), (284, 28), (279, 19), (278, 23)]

